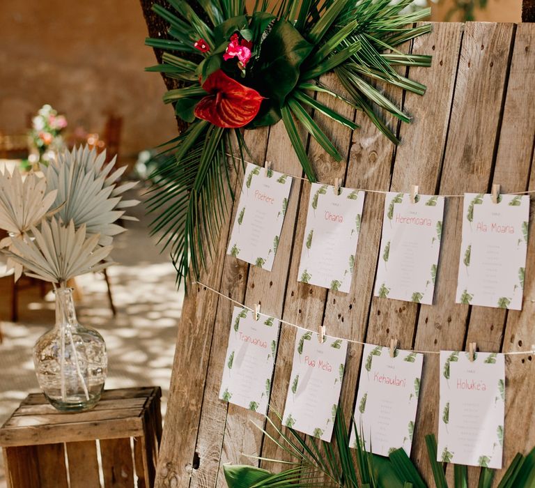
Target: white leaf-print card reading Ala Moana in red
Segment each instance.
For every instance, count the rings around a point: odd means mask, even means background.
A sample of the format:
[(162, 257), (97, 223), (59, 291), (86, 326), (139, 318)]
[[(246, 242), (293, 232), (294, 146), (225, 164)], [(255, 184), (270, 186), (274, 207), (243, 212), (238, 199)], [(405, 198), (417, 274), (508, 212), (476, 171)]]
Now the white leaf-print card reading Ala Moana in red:
[(527, 195), (465, 193), (457, 303), (522, 309), (528, 225)]

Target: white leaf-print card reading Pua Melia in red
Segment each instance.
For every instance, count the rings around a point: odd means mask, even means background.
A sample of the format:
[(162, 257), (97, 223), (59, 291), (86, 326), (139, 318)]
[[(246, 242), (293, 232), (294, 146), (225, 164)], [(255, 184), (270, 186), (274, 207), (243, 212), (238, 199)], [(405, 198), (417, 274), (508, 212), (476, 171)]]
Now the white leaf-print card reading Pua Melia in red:
[(283, 424), (330, 442), (340, 399), (348, 343), (297, 329)]

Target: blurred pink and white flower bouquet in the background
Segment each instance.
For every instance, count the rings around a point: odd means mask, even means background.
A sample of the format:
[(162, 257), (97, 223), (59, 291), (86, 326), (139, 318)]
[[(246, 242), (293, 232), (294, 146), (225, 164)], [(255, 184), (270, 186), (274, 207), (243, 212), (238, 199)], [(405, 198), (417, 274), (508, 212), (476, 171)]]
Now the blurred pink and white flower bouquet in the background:
[(31, 119), (31, 125), (32, 145), (38, 151), (39, 161), (46, 165), (54, 151), (65, 146), (61, 132), (67, 127), (67, 119), (50, 105), (43, 105)]

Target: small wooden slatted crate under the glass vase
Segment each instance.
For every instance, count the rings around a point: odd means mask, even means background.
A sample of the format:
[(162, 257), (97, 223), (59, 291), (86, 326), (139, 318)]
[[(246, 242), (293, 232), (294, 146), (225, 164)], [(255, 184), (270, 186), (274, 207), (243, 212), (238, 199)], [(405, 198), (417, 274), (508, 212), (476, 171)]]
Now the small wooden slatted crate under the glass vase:
[(106, 390), (94, 409), (63, 413), (28, 395), (0, 429), (8, 486), (152, 487), (161, 396), (160, 387)]

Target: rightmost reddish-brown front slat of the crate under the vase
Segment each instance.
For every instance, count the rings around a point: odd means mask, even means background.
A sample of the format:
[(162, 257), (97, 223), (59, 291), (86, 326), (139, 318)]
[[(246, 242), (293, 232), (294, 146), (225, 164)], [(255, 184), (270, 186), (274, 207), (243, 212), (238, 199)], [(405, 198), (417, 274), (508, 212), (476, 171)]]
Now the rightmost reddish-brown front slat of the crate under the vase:
[(104, 488), (132, 488), (134, 465), (130, 438), (102, 439), (100, 441)]

